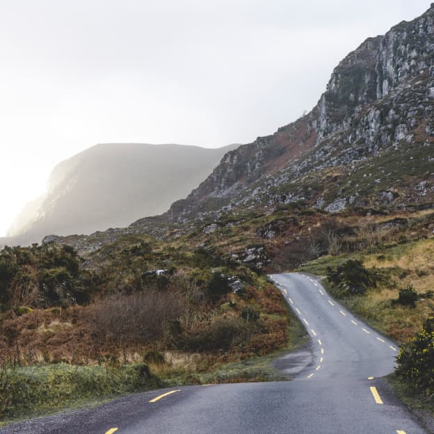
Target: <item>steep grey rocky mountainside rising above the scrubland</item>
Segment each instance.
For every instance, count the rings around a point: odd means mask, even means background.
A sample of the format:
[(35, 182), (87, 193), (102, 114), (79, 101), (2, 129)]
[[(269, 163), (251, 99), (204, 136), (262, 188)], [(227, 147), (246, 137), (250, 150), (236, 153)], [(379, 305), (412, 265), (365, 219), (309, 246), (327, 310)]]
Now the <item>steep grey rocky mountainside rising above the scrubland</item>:
[(364, 41), (310, 113), (227, 153), (168, 219), (299, 200), (330, 211), (432, 202), (433, 77), (434, 3)]

